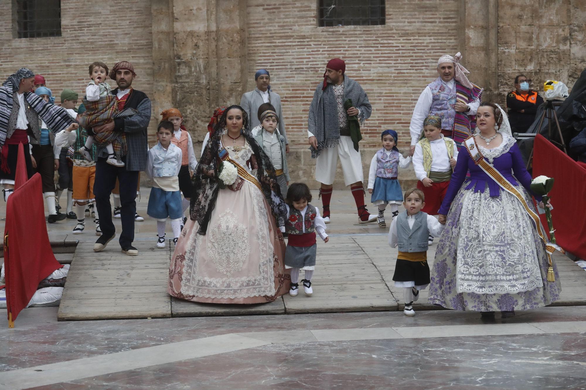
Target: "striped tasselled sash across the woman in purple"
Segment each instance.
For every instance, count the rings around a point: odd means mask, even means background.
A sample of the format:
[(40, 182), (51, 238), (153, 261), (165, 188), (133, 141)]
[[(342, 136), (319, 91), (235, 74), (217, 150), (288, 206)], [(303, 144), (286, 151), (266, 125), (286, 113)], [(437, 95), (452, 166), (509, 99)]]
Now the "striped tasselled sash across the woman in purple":
[(529, 214), (529, 217), (532, 218), (533, 223), (535, 224), (535, 226), (537, 228), (537, 234), (539, 234), (541, 241), (543, 241), (543, 243), (546, 245), (547, 260), (549, 263), (549, 269), (547, 270), (547, 280), (548, 280), (548, 282), (554, 282), (555, 279), (553, 278), (553, 266), (552, 266), (552, 261), (551, 261), (551, 254), (553, 254), (553, 252), (555, 252), (556, 249), (558, 249), (558, 247), (557, 247), (557, 245), (554, 245), (554, 244), (551, 244), (550, 242), (548, 242), (547, 236), (544, 234), (543, 229), (541, 228), (539, 215), (537, 215), (537, 213), (529, 207), (529, 204), (527, 204), (527, 202), (525, 201), (523, 194), (520, 193), (520, 191), (517, 190), (516, 187), (513, 186), (513, 184), (509, 183), (509, 180), (505, 179), (505, 177), (498, 170), (496, 170), (495, 167), (490, 165), (484, 159), (484, 156), (482, 155), (482, 153), (478, 149), (478, 144), (476, 144), (476, 139), (473, 136), (465, 139), (463, 145), (465, 145), (466, 150), (468, 151), (468, 154), (470, 155), (470, 158), (472, 159), (472, 161), (476, 165), (481, 167), (481, 169), (486, 173), (486, 175), (488, 175), (490, 177), (490, 179), (495, 180), (495, 182), (497, 184), (499, 184), (499, 186), (503, 190), (507, 191), (510, 194), (513, 194), (513, 196), (515, 196), (521, 202), (523, 208), (525, 209), (527, 214)]

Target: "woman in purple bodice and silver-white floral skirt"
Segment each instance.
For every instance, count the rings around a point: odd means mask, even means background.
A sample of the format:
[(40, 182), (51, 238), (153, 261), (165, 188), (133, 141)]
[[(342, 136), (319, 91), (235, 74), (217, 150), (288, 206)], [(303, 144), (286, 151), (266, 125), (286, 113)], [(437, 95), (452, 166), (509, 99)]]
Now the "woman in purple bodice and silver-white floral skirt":
[[(532, 179), (505, 112), (483, 103), (476, 122), (479, 152), (533, 208)], [(554, 265), (556, 282), (548, 282), (548, 256), (533, 220), (516, 196), (475, 164), (464, 143), (439, 214), (446, 228), (435, 253), (430, 303), (482, 312), (482, 317), (500, 310), (503, 317), (511, 317), (515, 310), (559, 299), (557, 269)]]

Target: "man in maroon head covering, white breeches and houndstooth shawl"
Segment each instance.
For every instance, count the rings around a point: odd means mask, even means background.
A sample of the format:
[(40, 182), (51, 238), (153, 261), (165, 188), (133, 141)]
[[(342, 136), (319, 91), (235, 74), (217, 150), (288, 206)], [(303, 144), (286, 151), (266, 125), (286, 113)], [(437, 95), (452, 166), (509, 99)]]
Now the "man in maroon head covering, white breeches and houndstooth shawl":
[[(336, 176), (338, 158), (342, 163), (344, 182), (350, 186), (356, 201), (359, 223), (376, 220), (364, 205), (362, 158), (357, 142), (350, 137), (349, 119), (356, 117), (360, 125), (370, 117), (372, 106), (368, 96), (356, 81), (346, 77), (346, 64), (339, 58), (328, 62), (309, 107), (308, 138), (311, 157), (316, 159), (315, 180), (321, 183), (319, 194), (323, 204), (323, 220), (330, 222), (332, 184)], [(345, 108), (346, 100), (352, 106)], [(356, 120), (356, 119), (354, 119)], [(355, 146), (356, 145), (356, 146)]]

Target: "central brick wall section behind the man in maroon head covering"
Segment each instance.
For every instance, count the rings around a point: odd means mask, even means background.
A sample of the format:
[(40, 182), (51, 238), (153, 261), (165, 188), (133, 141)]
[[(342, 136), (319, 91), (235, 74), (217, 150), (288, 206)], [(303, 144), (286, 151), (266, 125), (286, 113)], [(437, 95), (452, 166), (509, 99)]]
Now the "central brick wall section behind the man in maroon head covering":
[(457, 51), (458, 1), (387, 1), (384, 26), (327, 28), (317, 26), (316, 5), (248, 1), (247, 90), (255, 87), (255, 70), (268, 69), (272, 89), (281, 95), (291, 146), (305, 148), (309, 103), (327, 61), (340, 57), (373, 106), (361, 145), (379, 146), (380, 132), (392, 128), (406, 148), (417, 97), (437, 77), (437, 59)]

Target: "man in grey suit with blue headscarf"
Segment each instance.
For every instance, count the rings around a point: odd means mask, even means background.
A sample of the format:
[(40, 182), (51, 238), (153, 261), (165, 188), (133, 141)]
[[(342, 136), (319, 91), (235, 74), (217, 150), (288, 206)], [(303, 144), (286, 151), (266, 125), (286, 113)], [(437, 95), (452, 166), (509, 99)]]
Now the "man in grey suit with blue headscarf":
[(266, 69), (260, 69), (254, 74), (254, 80), (257, 87), (253, 91), (242, 95), (240, 106), (246, 110), (248, 118), (250, 119), (250, 129), (260, 126), (258, 120), (258, 107), (263, 103), (270, 103), (275, 108), (275, 112), (279, 116), (279, 132), (285, 138), (285, 150), (289, 153), (289, 140), (285, 133), (285, 121), (283, 119), (283, 111), (281, 110), (281, 97), (279, 94), (271, 91), (271, 75)]

